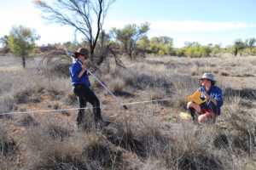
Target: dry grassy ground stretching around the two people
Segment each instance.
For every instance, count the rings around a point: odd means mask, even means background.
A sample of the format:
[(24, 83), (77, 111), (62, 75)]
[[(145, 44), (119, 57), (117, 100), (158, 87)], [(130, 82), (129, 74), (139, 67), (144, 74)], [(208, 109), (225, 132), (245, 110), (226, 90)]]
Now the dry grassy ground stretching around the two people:
[[(90, 110), (79, 129), (76, 111), (1, 116), (0, 168), (253, 169), (255, 62), (253, 57), (152, 57), (124, 59), (123, 69), (107, 60), (96, 77), (124, 103), (170, 100), (128, 105), (124, 111), (90, 77), (103, 104), (102, 116), (112, 124), (96, 128)], [(77, 107), (70, 80), (63, 75), (67, 68), (50, 68), (1, 71), (0, 112)], [(182, 122), (178, 113), (186, 110), (184, 99), (199, 87), (204, 72), (212, 72), (223, 89), (222, 114), (214, 125)]]

